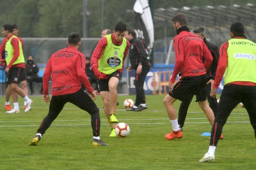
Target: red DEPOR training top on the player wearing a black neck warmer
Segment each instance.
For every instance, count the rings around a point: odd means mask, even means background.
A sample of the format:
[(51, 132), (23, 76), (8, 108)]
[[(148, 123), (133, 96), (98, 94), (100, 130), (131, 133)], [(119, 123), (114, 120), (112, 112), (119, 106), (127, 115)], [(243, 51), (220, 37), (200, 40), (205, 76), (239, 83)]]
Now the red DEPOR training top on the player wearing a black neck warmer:
[[(201, 38), (189, 31), (181, 31), (173, 38), (173, 46), (175, 66), (170, 82), (175, 82), (180, 70), (182, 70), (182, 77), (206, 74), (213, 59)], [(202, 62), (202, 56), (205, 58), (205, 63)]]

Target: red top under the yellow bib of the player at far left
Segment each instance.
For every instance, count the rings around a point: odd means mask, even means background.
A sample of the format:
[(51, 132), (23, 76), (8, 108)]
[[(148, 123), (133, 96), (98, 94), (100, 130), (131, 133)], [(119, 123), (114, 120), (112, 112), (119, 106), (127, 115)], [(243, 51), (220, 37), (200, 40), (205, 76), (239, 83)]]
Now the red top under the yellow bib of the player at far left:
[[(13, 34), (9, 35), (7, 38), (4, 39), (4, 41), (2, 42), (1, 46), (0, 46), (0, 54), (3, 53), (3, 51), (5, 50), (5, 43), (13, 36)], [(19, 38), (19, 37), (18, 37)], [(23, 48), (23, 40), (22, 38), (19, 38), (19, 41), (22, 45)], [(9, 65), (7, 66), (7, 68), (11, 68), (11, 67), (22, 67), (25, 69), (25, 64), (24, 63), (18, 63), (18, 64), (14, 64), (13, 63), (17, 60), (17, 58), (19, 57), (19, 41), (17, 40), (17, 38), (12, 38), (11, 40), (11, 44), (13, 45), (13, 49), (14, 49), (14, 53), (13, 53), (13, 58), (10, 61)], [(3, 60), (3, 62), (6, 62), (5, 59)]]

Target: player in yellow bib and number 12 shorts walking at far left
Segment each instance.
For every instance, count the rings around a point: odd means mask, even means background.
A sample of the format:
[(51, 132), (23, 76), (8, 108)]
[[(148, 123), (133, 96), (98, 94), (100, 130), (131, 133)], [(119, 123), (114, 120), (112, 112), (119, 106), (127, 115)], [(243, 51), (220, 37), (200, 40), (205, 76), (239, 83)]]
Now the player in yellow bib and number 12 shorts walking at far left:
[(3, 37), (7, 39), (5, 43), (5, 59), (0, 60), (0, 62), (6, 62), (7, 64), (5, 69), (5, 72), (8, 73), (7, 80), (9, 87), (7, 88), (11, 88), (13, 92), (12, 98), (14, 104), (14, 109), (6, 113), (19, 113), (18, 95), (26, 101), (25, 112), (28, 112), (33, 102), (28, 98), (26, 93), (18, 87), (19, 83), (27, 82), (22, 44), (12, 32), (13, 28), (11, 25), (6, 24), (2, 27)]

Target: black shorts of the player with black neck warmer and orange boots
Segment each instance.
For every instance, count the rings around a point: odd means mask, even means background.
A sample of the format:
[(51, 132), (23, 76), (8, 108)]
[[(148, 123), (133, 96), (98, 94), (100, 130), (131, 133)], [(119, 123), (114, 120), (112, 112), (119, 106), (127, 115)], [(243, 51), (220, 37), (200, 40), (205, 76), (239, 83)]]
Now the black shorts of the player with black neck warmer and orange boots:
[(190, 95), (196, 95), (196, 101), (205, 101), (207, 96), (207, 75), (182, 77), (169, 91), (169, 95), (175, 99), (184, 100)]

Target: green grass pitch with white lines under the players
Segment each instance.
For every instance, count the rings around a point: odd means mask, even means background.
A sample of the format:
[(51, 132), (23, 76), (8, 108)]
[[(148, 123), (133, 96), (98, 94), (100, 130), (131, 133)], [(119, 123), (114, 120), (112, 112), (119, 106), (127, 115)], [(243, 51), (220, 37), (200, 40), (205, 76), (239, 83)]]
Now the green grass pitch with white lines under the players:
[[(218, 96), (219, 97), (219, 96)], [(35, 136), (49, 104), (31, 97), (32, 110), (6, 114), (0, 98), (0, 169), (255, 169), (255, 137), (246, 109), (238, 106), (223, 128), (215, 161), (199, 163), (209, 147), (211, 126), (194, 99), (188, 109), (183, 138), (165, 139), (172, 126), (163, 105), (164, 96), (146, 96), (148, 109), (127, 112), (123, 101), (135, 96), (119, 96), (116, 117), (130, 126), (125, 138), (109, 137), (111, 129), (100, 110), (100, 137), (109, 147), (92, 146), (90, 115), (67, 103), (37, 146), (28, 143)], [(12, 100), (11, 100), (12, 101)], [(101, 97), (96, 104), (103, 107)], [(180, 101), (174, 103), (178, 111)]]

